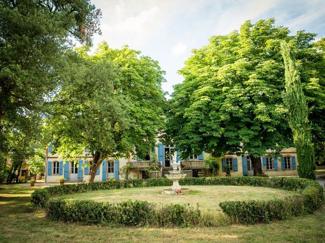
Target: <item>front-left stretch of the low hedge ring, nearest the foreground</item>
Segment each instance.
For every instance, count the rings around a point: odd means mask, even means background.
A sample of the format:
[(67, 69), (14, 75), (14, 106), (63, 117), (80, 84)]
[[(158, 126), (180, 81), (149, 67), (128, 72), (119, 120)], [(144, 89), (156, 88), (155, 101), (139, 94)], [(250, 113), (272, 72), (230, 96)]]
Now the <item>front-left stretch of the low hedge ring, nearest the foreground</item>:
[(49, 200), (46, 213), (51, 220), (157, 227), (188, 227), (195, 225), (201, 216), (199, 210), (186, 205), (170, 204), (156, 209), (147, 201), (127, 200), (111, 204), (64, 197)]

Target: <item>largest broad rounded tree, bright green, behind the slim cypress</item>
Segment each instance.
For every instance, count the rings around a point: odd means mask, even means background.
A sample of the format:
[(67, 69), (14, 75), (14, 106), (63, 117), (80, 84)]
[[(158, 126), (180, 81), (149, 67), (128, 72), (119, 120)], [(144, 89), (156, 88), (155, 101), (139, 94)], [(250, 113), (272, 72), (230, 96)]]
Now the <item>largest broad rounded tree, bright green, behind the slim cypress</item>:
[[(324, 67), (324, 59), (310, 44), (314, 36), (304, 31), (290, 36), (274, 19), (246, 21), (240, 32), (212, 36), (179, 71), (184, 81), (174, 87), (170, 100), (167, 140), (174, 141), (183, 157), (202, 150), (216, 156), (248, 151), (254, 173), (261, 172), (266, 150), (278, 153), (293, 145), (291, 117), (282, 100), (280, 39), (296, 40), (307, 102), (317, 111), (311, 119), (325, 118), (324, 100), (319, 100), (324, 72), (318, 68)], [(317, 129), (313, 132), (320, 136)]]

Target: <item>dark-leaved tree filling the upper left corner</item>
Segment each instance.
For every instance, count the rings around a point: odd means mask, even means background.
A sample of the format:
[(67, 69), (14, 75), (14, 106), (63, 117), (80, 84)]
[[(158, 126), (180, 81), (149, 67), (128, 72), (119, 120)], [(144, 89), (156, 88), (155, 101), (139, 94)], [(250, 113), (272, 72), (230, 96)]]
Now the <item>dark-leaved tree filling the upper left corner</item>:
[(63, 54), (72, 39), (91, 43), (101, 11), (88, 0), (2, 0), (0, 16), (0, 157), (8, 157), (17, 151), (13, 134), (26, 142), (38, 135), (39, 117), (64, 81)]

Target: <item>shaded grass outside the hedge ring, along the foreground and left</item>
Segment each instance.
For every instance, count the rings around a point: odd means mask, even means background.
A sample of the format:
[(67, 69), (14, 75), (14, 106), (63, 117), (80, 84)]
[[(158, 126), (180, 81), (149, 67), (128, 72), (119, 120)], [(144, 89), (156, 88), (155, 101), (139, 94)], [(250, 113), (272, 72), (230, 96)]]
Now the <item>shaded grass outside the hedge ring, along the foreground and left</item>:
[(322, 242), (325, 207), (271, 224), (214, 228), (110, 228), (52, 222), (28, 212), (29, 186), (0, 186), (0, 242)]

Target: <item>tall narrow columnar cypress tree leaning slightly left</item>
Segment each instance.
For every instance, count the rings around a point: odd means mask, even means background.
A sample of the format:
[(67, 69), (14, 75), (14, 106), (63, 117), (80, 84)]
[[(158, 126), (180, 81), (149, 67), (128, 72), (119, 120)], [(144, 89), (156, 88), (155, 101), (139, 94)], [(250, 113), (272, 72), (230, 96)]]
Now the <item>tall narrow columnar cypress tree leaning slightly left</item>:
[(315, 179), (314, 150), (311, 143), (311, 124), (308, 107), (301, 88), (300, 75), (296, 66), (292, 43), (281, 41), (285, 66), (284, 103), (288, 108), (288, 121), (294, 135), (294, 144), (299, 161), (298, 174), (301, 178)]

